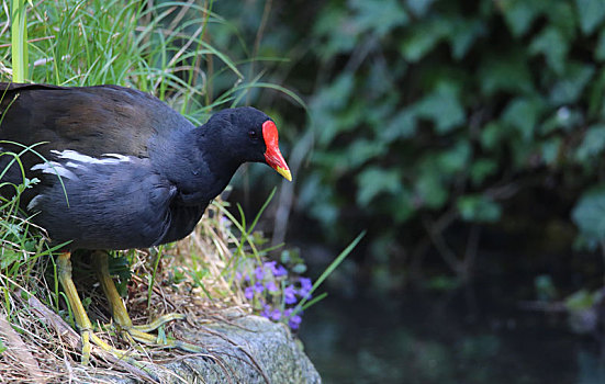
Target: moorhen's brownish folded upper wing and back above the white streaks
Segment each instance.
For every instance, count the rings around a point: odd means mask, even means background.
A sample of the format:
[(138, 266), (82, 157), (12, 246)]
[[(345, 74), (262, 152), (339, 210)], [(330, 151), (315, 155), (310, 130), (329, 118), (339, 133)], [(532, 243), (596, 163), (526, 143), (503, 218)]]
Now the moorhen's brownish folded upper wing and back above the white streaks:
[(153, 136), (193, 127), (160, 100), (116, 86), (0, 83), (0, 140), (48, 143), (37, 147), (43, 155), (69, 149), (144, 158)]

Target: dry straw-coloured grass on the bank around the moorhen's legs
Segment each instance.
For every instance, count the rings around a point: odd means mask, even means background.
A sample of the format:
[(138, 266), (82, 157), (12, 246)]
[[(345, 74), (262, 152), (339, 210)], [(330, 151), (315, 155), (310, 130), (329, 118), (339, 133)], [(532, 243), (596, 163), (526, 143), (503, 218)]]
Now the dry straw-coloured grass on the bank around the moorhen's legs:
[[(221, 204), (221, 203), (217, 203)], [(149, 276), (154, 257), (149, 250), (134, 252), (133, 276), (127, 283), (125, 298), (134, 324), (144, 324), (166, 313), (187, 315), (188, 327), (225, 320), (225, 309), (242, 314), (250, 312), (240, 290), (229, 283), (232, 266), (236, 264), (231, 249), (237, 239), (229, 231), (231, 222), (223, 218), (216, 205), (209, 207), (204, 219), (186, 239), (164, 250), (155, 274), (148, 302)], [(109, 307), (92, 271), (87, 270), (86, 257), (74, 260), (75, 282), (80, 295), (90, 298), (88, 314), (93, 324), (111, 323)], [(32, 268), (24, 263), (23, 268)], [(149, 379), (145, 373), (93, 349), (90, 365), (80, 364), (79, 335), (65, 320), (68, 318), (63, 298), (59, 314), (52, 308), (57, 283), (49, 257), (35, 260), (27, 275), (0, 274), (0, 382), (1, 383), (104, 383), (108, 376)], [(60, 295), (60, 294), (59, 294)], [(148, 305), (149, 303), (149, 305)], [(101, 327), (104, 328), (104, 327)], [(109, 327), (108, 329), (111, 329)], [(165, 327), (167, 335), (179, 338), (178, 327)], [(110, 331), (97, 334), (110, 345), (133, 350), (124, 339)], [(181, 351), (147, 348), (145, 361), (161, 362), (184, 355)]]

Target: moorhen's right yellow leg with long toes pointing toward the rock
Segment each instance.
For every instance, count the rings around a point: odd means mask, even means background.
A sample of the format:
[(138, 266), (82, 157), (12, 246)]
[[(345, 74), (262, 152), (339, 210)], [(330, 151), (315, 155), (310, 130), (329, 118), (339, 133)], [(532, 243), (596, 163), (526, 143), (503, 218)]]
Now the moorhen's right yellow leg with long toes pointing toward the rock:
[(126, 310), (126, 306), (122, 302), (122, 297), (120, 297), (120, 294), (115, 289), (115, 284), (113, 283), (113, 279), (109, 273), (108, 253), (98, 251), (94, 252), (92, 258), (94, 259), (97, 275), (99, 278), (99, 281), (101, 282), (101, 287), (103, 289), (103, 292), (105, 292), (105, 296), (108, 297), (108, 301), (110, 303), (112, 317), (120, 329), (123, 331), (123, 334), (126, 335), (126, 337), (145, 345), (153, 345), (165, 348), (178, 348), (194, 353), (202, 352), (202, 349), (198, 346), (184, 341), (175, 340), (171, 338), (159, 339), (158, 336), (148, 334), (149, 331), (159, 328), (165, 323), (183, 319), (184, 315), (168, 314), (155, 319), (147, 325), (134, 326)]

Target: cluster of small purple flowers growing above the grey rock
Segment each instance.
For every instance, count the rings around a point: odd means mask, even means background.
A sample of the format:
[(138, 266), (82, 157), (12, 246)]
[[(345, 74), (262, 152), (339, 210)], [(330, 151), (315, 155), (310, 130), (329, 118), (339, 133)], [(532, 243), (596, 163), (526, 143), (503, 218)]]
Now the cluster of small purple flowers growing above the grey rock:
[(261, 316), (288, 324), (293, 330), (299, 328), (302, 312), (293, 312), (301, 300), (311, 298), (311, 279), (291, 278), (277, 261), (244, 269), (236, 279), (244, 286), (244, 296)]

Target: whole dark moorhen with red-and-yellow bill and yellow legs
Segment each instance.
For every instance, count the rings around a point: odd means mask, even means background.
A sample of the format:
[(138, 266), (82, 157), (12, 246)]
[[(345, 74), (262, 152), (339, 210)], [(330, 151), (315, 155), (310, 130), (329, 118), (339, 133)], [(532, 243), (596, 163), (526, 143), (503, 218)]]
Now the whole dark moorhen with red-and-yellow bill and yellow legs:
[[(247, 161), (265, 162), (285, 179), (290, 170), (278, 147), (273, 121), (254, 108), (227, 109), (193, 126), (159, 99), (117, 87), (55, 87), (0, 83), (1, 182), (37, 183), (20, 206), (47, 230), (51, 241), (69, 241), (57, 259), (59, 281), (82, 338), (117, 353), (92, 332), (71, 280), (75, 249), (148, 248), (189, 235), (211, 200)], [(11, 199), (13, 188), (0, 190)], [(179, 315), (133, 326), (109, 273), (108, 253), (93, 260), (112, 316), (133, 339), (156, 343), (148, 334)], [(182, 341), (166, 347), (197, 351)]]

